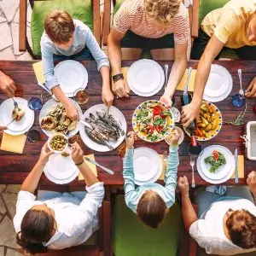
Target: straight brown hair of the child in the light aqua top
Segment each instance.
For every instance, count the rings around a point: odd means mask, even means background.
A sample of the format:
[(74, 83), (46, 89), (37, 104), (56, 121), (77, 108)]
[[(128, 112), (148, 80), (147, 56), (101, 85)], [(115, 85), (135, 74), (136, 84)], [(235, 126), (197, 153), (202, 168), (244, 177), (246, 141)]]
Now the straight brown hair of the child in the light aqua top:
[(146, 191), (137, 204), (137, 215), (144, 224), (156, 229), (166, 217), (166, 202), (153, 191)]

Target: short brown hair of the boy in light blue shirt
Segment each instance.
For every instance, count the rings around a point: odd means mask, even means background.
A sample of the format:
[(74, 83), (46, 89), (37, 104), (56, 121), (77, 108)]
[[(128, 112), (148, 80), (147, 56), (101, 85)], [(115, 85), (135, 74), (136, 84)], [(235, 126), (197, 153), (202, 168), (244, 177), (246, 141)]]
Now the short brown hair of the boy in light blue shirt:
[(53, 43), (66, 44), (72, 38), (75, 26), (71, 15), (64, 10), (55, 9), (46, 15), (44, 29)]

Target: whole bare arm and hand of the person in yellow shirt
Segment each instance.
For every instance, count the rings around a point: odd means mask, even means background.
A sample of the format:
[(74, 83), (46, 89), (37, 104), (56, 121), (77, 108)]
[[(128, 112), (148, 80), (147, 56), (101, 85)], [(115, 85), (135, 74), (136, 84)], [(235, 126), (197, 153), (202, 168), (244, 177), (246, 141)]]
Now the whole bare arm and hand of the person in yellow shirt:
[(189, 105), (183, 107), (182, 120), (184, 126), (189, 124), (196, 118), (201, 108), (202, 96), (207, 84), (207, 79), (211, 71), (212, 61), (223, 49), (224, 44), (218, 40), (214, 35), (207, 44), (201, 59), (197, 67), (197, 73), (195, 76), (195, 90), (193, 94), (192, 102)]

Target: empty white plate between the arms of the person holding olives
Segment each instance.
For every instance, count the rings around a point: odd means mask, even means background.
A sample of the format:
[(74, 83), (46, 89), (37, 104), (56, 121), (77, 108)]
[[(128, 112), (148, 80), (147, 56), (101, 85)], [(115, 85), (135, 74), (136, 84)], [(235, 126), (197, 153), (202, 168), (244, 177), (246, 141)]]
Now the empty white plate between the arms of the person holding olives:
[(51, 154), (44, 166), (44, 174), (57, 184), (72, 182), (79, 175), (79, 169), (74, 165), (71, 156), (63, 157), (61, 154)]

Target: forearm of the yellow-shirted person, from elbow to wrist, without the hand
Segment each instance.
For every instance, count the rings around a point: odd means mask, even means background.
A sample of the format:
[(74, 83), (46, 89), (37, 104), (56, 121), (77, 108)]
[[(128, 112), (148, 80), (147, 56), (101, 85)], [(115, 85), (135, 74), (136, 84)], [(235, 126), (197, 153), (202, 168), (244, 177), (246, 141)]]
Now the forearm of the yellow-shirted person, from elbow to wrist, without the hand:
[(212, 59), (209, 59), (207, 55), (202, 55), (197, 67), (197, 73), (195, 76), (195, 89), (193, 94), (193, 100), (196, 105), (201, 105), (201, 100), (204, 94), (204, 90), (207, 84), (207, 79), (211, 71)]

